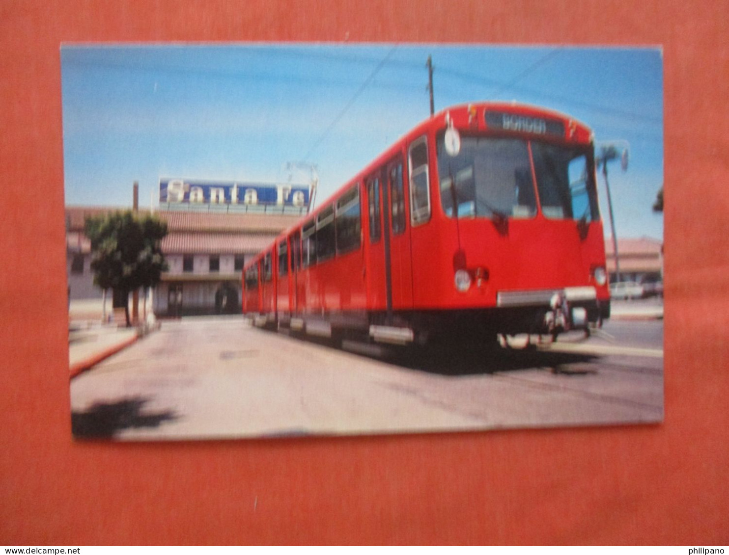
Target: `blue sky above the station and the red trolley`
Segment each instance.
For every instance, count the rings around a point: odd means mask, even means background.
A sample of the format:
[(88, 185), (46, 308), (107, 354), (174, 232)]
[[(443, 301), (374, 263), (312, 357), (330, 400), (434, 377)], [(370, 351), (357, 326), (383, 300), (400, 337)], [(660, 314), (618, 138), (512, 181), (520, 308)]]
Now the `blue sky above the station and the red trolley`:
[[(658, 49), (442, 44), (64, 45), (67, 205), (158, 198), (159, 178), (275, 182), (308, 162), (323, 200), (435, 110), (515, 100), (563, 111), (596, 141), (630, 143), (609, 166), (620, 237), (663, 237), (663, 60)], [(294, 181), (309, 174), (295, 172)], [(601, 208), (609, 234), (604, 178)]]

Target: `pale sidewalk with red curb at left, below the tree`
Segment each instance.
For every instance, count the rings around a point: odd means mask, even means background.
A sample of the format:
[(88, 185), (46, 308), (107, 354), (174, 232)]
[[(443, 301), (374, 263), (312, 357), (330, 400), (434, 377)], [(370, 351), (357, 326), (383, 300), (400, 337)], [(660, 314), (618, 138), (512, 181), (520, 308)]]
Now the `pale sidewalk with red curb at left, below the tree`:
[(72, 321), (69, 326), (70, 377), (77, 376), (105, 358), (132, 345), (138, 337), (137, 328), (119, 328), (116, 324)]

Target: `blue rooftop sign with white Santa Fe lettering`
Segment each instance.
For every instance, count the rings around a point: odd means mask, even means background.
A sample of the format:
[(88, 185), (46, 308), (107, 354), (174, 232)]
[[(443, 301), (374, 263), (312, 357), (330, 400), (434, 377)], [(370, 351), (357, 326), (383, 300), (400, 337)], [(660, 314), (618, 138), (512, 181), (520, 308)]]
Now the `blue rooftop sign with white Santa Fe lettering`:
[(160, 202), (179, 204), (283, 205), (309, 203), (308, 185), (263, 184), (240, 181), (160, 179)]

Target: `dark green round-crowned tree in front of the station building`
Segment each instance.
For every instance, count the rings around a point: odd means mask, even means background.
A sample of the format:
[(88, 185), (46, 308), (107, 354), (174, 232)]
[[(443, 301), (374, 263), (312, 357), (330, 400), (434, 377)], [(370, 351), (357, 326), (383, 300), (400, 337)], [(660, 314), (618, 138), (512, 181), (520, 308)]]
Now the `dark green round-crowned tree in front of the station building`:
[(160, 248), (167, 224), (155, 216), (137, 216), (127, 210), (87, 218), (84, 232), (91, 241), (94, 283), (112, 289), (114, 299), (123, 299), (130, 326), (130, 292), (155, 287), (168, 269)]

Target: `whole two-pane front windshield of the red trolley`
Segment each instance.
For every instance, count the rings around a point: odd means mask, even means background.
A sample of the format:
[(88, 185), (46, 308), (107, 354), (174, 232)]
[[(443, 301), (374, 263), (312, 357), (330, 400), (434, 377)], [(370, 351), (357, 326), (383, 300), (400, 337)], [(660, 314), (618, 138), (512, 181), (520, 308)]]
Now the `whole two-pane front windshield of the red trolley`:
[[(456, 156), (437, 140), (440, 200), (448, 216), (599, 219), (587, 146), (464, 136)], [(535, 182), (536, 178), (536, 182)]]

